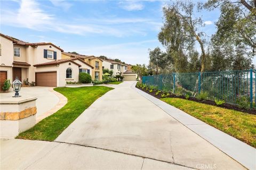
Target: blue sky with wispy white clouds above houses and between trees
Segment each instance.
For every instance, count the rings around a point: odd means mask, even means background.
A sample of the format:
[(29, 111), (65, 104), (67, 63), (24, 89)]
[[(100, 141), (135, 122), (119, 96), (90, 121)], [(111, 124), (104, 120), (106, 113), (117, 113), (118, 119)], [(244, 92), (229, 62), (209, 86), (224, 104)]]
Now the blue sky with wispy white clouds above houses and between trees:
[[(1, 1), (1, 32), (31, 43), (52, 42), (65, 52), (105, 55), (148, 64), (159, 46), (162, 7), (170, 1)], [(203, 11), (207, 35), (219, 11)]]

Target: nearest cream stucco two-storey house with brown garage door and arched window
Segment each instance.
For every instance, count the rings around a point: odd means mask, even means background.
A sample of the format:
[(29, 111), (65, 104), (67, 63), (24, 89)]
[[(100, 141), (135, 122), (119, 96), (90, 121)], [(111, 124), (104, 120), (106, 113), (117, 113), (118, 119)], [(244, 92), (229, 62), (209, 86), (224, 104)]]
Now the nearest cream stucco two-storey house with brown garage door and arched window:
[(78, 81), (79, 69), (93, 66), (80, 58), (61, 60), (63, 50), (52, 43), (27, 43), (0, 33), (1, 89), (4, 80), (18, 77), (36, 86), (63, 87)]

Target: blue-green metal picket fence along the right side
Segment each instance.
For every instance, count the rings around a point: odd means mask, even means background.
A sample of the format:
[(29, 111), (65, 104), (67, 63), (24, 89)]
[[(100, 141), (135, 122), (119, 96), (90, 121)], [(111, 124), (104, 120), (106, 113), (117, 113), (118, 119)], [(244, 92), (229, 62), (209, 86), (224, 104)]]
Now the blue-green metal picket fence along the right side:
[(172, 73), (143, 76), (142, 83), (157, 86), (159, 90), (189, 94), (195, 97), (207, 92), (211, 100), (221, 99), (237, 104), (246, 98), (251, 107), (256, 107), (256, 70)]

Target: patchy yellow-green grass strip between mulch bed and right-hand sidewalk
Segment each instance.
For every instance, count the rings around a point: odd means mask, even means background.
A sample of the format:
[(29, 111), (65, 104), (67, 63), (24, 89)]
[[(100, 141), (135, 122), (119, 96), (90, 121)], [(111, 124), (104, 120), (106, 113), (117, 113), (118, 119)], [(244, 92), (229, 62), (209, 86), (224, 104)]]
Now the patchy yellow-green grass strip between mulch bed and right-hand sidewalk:
[(162, 98), (161, 100), (256, 147), (256, 115), (180, 98)]

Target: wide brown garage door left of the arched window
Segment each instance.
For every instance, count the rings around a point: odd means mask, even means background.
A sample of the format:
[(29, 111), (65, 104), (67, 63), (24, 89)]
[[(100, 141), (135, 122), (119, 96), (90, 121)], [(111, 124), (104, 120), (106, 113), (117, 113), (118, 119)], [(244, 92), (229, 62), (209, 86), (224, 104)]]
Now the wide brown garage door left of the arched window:
[(36, 86), (57, 87), (57, 72), (36, 73)]

